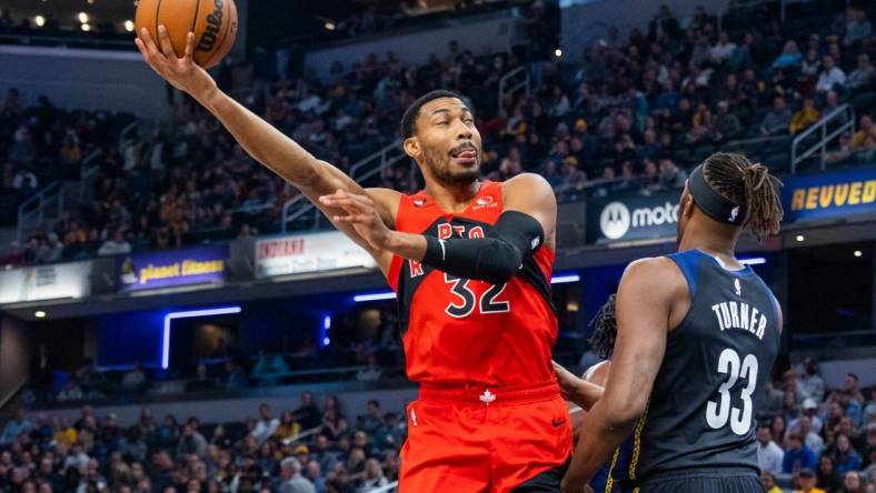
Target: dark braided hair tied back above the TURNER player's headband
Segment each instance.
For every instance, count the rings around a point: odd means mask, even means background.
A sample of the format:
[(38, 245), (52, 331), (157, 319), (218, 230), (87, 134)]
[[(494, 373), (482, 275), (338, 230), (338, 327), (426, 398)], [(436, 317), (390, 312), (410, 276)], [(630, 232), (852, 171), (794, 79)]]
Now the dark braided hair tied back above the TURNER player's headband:
[(767, 167), (754, 164), (743, 154), (716, 152), (703, 162), (706, 182), (725, 199), (745, 205), (747, 217), (743, 227), (764, 242), (778, 233), (782, 200), (778, 188), (782, 181), (769, 174)]

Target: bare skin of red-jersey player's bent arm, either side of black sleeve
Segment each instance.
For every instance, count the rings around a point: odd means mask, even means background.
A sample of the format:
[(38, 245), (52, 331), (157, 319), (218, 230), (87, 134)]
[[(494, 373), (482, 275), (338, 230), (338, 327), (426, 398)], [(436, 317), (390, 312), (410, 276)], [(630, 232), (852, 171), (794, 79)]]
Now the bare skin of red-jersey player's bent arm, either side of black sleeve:
[[(371, 249), (416, 261), (426, 255), (426, 237), (389, 229), (370, 197), (339, 191), (323, 195), (319, 201), (327, 208), (342, 209), (346, 215), (335, 215), (332, 222), (351, 227)], [(545, 231), (545, 244), (555, 248), (557, 200), (544, 178), (524, 173), (506, 181), (502, 183), (502, 203), (505, 211), (518, 211), (535, 218)]]

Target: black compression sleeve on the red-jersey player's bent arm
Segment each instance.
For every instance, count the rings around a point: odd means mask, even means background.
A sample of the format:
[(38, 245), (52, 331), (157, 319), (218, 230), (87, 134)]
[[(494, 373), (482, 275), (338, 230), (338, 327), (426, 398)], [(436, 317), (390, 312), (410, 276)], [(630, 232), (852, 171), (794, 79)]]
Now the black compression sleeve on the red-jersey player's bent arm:
[(422, 263), (458, 278), (504, 284), (544, 242), (545, 231), (535, 218), (506, 211), (487, 238), (439, 240), (426, 237)]

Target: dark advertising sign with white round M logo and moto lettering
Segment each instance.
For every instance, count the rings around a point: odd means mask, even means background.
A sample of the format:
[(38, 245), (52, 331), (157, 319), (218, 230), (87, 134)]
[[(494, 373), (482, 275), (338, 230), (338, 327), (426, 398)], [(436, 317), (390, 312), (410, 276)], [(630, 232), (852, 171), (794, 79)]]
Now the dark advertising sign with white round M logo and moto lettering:
[(596, 199), (587, 203), (587, 241), (673, 238), (680, 191)]

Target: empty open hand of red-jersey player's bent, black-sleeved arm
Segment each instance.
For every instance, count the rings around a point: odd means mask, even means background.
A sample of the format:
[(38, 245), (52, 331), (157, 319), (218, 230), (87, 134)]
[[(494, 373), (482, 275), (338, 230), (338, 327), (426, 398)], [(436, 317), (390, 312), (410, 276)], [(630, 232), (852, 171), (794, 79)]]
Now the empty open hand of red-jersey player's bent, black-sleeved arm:
[(332, 223), (349, 224), (371, 248), (389, 250), (388, 242), (392, 230), (380, 218), (371, 198), (338, 190), (335, 193), (320, 197), (319, 202), (346, 213), (332, 215), (330, 218)]

